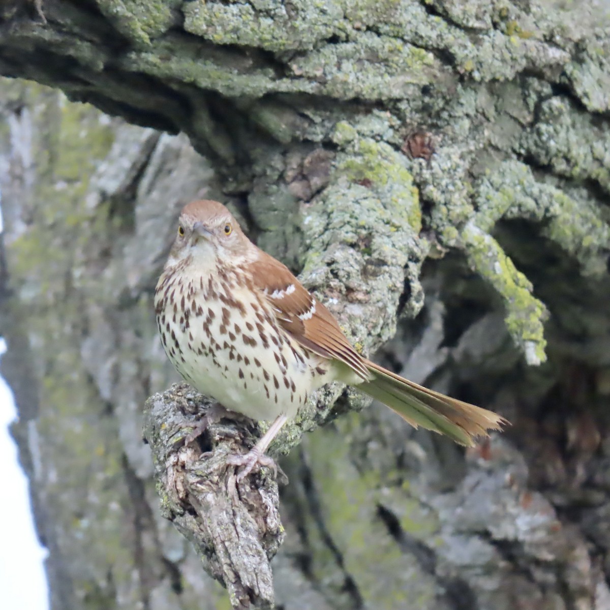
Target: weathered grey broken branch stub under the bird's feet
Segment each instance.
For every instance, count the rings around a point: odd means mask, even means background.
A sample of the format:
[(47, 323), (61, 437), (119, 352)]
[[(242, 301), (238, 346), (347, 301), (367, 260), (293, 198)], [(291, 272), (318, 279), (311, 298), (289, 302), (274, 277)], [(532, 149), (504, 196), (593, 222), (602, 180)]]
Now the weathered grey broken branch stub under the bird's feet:
[(187, 384), (146, 401), (144, 436), (152, 451), (163, 517), (198, 552), (207, 573), (229, 592), (233, 608), (272, 608), (270, 561), (284, 539), (273, 472), (237, 483), (229, 454), (253, 445), (244, 423), (210, 423), (195, 442), (185, 437), (212, 403)]

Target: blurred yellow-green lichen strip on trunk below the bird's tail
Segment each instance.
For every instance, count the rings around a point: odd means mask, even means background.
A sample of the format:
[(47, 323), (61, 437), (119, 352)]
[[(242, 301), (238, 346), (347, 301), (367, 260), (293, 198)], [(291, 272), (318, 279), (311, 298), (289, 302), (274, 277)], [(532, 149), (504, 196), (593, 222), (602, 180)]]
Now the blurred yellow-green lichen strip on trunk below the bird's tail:
[[(413, 556), (401, 551), (376, 515), (376, 506), (402, 503), (401, 522), (418, 535), (434, 531), (436, 523), (400, 488), (386, 485), (391, 473), (354, 468), (350, 445), (353, 429), (361, 426), (359, 419), (357, 414), (348, 414), (337, 420), (336, 428), (326, 426), (307, 437), (310, 467), (323, 499), (321, 518), (367, 607), (432, 609), (436, 607), (433, 579), (422, 573)], [(332, 569), (336, 556), (316, 533), (317, 528), (308, 531), (314, 553), (312, 569), (317, 578), (325, 580), (325, 575), (336, 573)], [(341, 586), (337, 581), (334, 588)]]

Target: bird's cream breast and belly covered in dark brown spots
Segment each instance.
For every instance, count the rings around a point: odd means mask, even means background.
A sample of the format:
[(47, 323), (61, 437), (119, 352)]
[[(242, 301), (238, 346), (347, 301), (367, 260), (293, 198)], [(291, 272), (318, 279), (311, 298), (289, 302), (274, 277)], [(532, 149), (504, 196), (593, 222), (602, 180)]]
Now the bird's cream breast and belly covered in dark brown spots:
[(327, 368), (278, 326), (272, 303), (283, 296), (265, 295), (239, 268), (207, 278), (188, 263), (168, 268), (155, 295), (163, 348), (184, 379), (227, 409), (293, 417)]

